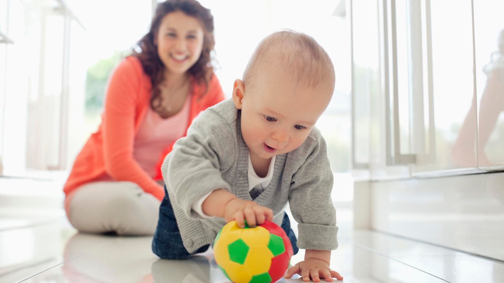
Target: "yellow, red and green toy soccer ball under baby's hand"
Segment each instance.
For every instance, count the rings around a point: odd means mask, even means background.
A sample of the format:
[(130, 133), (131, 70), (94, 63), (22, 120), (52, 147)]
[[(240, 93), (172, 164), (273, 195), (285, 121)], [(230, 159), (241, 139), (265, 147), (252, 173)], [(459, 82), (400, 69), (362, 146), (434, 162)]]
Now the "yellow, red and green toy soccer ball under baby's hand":
[(266, 221), (255, 228), (226, 224), (214, 242), (215, 261), (235, 283), (275, 282), (289, 266), (292, 245), (282, 228)]

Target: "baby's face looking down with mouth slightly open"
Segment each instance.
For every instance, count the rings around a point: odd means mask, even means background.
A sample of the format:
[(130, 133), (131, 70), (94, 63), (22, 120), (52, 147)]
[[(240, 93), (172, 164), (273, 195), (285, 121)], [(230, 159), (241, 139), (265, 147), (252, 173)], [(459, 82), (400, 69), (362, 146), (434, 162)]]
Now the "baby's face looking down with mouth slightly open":
[(304, 143), (331, 100), (333, 86), (301, 87), (282, 72), (256, 76), (244, 86), (241, 133), (250, 155), (270, 159)]

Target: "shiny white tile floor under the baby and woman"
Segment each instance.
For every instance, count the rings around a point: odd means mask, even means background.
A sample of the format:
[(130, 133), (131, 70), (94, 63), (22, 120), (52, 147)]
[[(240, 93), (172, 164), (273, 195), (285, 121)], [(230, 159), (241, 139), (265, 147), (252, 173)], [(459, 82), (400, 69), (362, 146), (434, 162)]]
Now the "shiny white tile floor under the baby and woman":
[[(22, 224), (22, 225), (21, 225)], [(504, 263), (340, 224), (344, 282), (504, 282)], [(151, 237), (77, 234), (68, 223), (0, 221), (0, 282), (228, 282), (211, 251), (162, 260)], [(300, 251), (293, 262), (303, 258)], [(280, 282), (301, 282), (301, 278)]]

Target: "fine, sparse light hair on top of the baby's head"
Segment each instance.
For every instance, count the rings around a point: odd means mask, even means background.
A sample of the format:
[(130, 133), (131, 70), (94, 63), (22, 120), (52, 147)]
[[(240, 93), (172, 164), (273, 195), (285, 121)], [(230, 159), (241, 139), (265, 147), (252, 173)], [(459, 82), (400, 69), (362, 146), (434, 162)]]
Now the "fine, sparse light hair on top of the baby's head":
[(245, 67), (243, 83), (253, 85), (257, 73), (267, 65), (280, 67), (305, 87), (315, 87), (321, 82), (333, 86), (335, 83), (333, 62), (326, 50), (302, 32), (284, 29), (264, 38)]

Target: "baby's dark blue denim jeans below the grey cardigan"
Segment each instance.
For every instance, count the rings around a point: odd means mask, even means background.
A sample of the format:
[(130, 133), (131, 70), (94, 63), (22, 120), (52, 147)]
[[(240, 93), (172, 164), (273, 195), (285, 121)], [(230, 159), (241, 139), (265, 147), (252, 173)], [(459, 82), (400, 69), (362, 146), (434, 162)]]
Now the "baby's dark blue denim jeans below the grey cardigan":
[[(166, 186), (164, 187), (164, 193), (165, 196), (159, 207), (158, 225), (154, 233), (154, 239), (152, 240), (152, 251), (157, 256), (164, 259), (185, 259), (193, 254), (207, 251), (210, 245), (205, 245), (192, 253), (187, 252), (182, 244), (182, 238), (180, 237), (180, 231), (178, 230), (175, 215), (173, 214), (173, 208), (168, 193), (166, 192)], [(286, 213), (284, 213), (281, 227), (287, 234), (287, 237), (289, 237), (294, 254), (296, 254), (299, 251), (296, 244), (297, 239), (290, 228), (289, 217)]]

